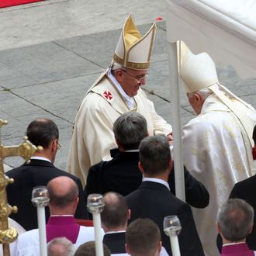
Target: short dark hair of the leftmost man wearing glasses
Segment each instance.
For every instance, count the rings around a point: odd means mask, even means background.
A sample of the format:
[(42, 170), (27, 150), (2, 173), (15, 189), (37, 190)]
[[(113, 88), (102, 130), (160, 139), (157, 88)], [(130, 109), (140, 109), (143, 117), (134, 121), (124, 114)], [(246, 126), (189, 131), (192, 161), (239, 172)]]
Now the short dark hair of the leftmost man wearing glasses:
[(36, 147), (42, 146), (43, 148), (47, 148), (52, 140), (59, 138), (59, 130), (54, 121), (41, 118), (29, 123), (26, 129), (26, 136)]

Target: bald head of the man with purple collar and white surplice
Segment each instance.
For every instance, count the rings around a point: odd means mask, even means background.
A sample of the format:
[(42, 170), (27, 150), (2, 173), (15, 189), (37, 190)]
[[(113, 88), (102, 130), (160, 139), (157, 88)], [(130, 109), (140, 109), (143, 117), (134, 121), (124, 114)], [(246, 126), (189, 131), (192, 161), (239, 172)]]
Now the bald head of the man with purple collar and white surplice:
[(50, 206), (65, 208), (78, 198), (78, 185), (67, 176), (59, 176), (47, 184)]

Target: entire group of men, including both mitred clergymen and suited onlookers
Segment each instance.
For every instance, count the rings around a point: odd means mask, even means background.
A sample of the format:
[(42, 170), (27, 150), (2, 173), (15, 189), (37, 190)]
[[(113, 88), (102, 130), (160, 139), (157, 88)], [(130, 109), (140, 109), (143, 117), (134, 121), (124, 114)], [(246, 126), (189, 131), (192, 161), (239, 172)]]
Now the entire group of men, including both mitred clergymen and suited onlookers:
[(9, 204), (19, 208), (10, 217), (26, 230), (12, 244), (13, 255), (39, 255), (30, 201), (37, 185), (47, 185), (50, 197), (49, 255), (95, 255), (93, 227), (76, 223), (90, 218), (86, 199), (92, 193), (105, 202), (104, 255), (171, 255), (163, 229), (170, 215), (182, 225), (181, 255), (254, 255), (256, 111), (220, 85), (208, 54), (192, 54), (182, 43), (180, 77), (196, 117), (182, 128), (185, 202), (175, 197), (171, 125), (140, 88), (155, 29), (141, 36), (131, 16), (126, 19), (112, 64), (78, 109), (67, 171), (54, 166), (57, 125), (46, 118), (29, 124), (27, 137), (43, 150), (6, 172), (16, 180), (7, 187)]

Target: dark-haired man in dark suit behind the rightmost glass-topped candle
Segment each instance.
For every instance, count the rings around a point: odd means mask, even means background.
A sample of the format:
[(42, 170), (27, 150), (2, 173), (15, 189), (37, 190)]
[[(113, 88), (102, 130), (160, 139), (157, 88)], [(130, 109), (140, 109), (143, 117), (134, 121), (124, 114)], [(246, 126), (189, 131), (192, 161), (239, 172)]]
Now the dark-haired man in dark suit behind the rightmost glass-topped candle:
[(159, 135), (146, 137), (140, 143), (139, 152), (143, 180), (136, 191), (126, 195), (131, 210), (130, 222), (138, 218), (153, 220), (161, 230), (163, 246), (171, 254), (170, 240), (164, 234), (163, 221), (165, 216), (177, 215), (182, 225), (182, 232), (178, 236), (181, 254), (204, 255), (190, 206), (177, 199), (168, 185), (172, 161), (167, 138)]

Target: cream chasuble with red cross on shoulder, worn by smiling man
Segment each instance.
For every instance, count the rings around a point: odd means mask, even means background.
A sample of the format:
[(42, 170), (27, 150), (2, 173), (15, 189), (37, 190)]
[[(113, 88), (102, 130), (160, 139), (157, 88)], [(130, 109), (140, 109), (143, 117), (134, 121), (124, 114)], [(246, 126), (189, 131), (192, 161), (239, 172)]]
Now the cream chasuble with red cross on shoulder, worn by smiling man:
[(140, 112), (147, 120), (150, 135), (171, 132), (171, 125), (157, 115), (153, 102), (147, 99), (141, 88), (134, 101), (135, 108), (129, 109), (106, 73), (89, 88), (74, 120), (67, 158), (67, 171), (78, 176), (83, 185), (88, 168), (99, 161), (111, 159), (109, 150), (117, 147), (112, 126), (123, 113)]

